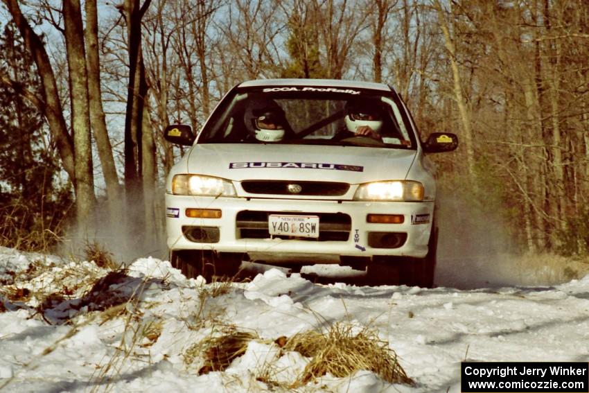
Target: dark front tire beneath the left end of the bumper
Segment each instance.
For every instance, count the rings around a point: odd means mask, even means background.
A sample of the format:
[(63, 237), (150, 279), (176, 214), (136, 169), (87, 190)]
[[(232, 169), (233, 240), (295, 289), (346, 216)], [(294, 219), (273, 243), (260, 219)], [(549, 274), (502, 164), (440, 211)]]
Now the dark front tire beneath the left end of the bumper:
[(211, 282), (213, 276), (231, 279), (239, 272), (242, 254), (216, 253), (209, 250), (172, 250), (170, 263), (188, 279), (198, 276)]

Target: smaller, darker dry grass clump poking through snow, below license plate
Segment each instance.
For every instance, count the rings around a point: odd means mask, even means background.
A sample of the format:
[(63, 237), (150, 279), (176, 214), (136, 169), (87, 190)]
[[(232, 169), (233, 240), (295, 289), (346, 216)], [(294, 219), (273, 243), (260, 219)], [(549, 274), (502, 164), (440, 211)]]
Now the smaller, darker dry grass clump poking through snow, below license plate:
[(204, 357), (204, 365), (198, 375), (224, 371), (231, 362), (242, 356), (250, 341), (258, 338), (254, 333), (231, 330), (217, 337), (207, 337), (197, 342), (184, 353), (184, 362), (191, 364), (195, 358)]

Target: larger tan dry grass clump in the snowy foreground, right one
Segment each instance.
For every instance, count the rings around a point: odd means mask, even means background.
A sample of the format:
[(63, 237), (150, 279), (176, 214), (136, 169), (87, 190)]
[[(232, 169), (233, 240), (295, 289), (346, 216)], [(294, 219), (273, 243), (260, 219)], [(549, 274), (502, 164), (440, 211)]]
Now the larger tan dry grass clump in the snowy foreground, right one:
[(399, 365), (395, 351), (367, 328), (354, 333), (350, 324), (333, 324), (326, 333), (297, 333), (285, 343), (285, 351), (297, 351), (311, 358), (294, 385), (305, 384), (329, 373), (342, 378), (359, 370), (368, 370), (389, 383), (413, 385)]

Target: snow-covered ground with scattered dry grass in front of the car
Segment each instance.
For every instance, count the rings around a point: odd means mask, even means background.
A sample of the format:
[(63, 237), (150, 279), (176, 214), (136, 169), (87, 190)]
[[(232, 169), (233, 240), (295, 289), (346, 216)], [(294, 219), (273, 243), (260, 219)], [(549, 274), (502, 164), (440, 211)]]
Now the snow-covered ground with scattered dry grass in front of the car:
[[(359, 371), (297, 391), (459, 392), (463, 360), (589, 358), (589, 276), (550, 287), (425, 290), (322, 285), (271, 269), (224, 288), (159, 259), (138, 259), (123, 274), (0, 248), (0, 300), (6, 392), (286, 390), (308, 358), (273, 341), (335, 322), (376, 329), (416, 384)], [(258, 339), (225, 372), (199, 376), (203, 360), (191, 350), (229, 326)]]

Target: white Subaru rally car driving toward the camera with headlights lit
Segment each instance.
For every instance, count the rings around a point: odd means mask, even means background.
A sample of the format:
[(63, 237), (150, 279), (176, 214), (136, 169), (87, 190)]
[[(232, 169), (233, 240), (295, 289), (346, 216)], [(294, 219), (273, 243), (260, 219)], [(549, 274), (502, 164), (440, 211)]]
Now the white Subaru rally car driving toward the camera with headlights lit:
[(166, 182), (170, 261), (195, 277), (242, 261), (367, 269), (373, 283), (432, 286), (436, 184), (422, 142), (392, 87), (343, 80), (252, 80), (234, 87)]

